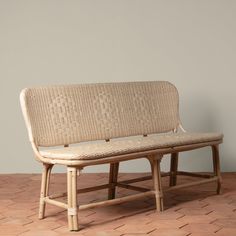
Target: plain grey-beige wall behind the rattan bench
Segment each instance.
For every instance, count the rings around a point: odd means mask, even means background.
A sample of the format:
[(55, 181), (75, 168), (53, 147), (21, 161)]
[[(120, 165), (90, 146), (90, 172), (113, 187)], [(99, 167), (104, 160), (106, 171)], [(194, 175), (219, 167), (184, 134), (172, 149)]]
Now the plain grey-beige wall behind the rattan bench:
[[(20, 110), (22, 88), (142, 80), (174, 83), (184, 127), (223, 132), (222, 170), (235, 171), (235, 12), (234, 0), (0, 0), (0, 173), (41, 170)], [(211, 170), (209, 148), (181, 156), (182, 169)], [(149, 166), (132, 161), (121, 171)]]

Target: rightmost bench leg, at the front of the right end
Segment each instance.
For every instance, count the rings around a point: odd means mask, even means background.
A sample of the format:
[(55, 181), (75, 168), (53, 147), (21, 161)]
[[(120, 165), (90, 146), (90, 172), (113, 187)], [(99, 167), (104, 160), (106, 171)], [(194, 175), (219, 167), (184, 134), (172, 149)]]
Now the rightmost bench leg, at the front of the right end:
[(217, 194), (220, 194), (221, 193), (222, 178), (221, 178), (221, 174), (220, 174), (219, 145), (212, 146), (212, 158), (213, 158), (214, 175), (218, 177), (216, 192), (217, 192)]

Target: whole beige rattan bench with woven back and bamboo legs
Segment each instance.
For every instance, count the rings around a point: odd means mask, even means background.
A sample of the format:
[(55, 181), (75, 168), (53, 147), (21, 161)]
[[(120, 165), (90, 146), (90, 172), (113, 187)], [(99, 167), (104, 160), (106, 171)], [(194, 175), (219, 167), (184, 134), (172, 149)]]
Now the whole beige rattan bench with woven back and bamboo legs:
[[(20, 100), (33, 151), (44, 167), (40, 219), (44, 218), (45, 204), (50, 203), (67, 209), (69, 229), (78, 230), (80, 210), (147, 196), (155, 196), (156, 209), (162, 211), (160, 161), (165, 154), (171, 154), (170, 172), (165, 173), (170, 176), (170, 188), (166, 191), (215, 181), (220, 193), (219, 144), (223, 135), (186, 132), (179, 119), (178, 91), (169, 82), (27, 88)], [(179, 152), (206, 146), (212, 148), (213, 174), (177, 170)], [(137, 158), (150, 162), (152, 174), (118, 181), (119, 163)], [(108, 184), (77, 189), (77, 176), (84, 167), (105, 163), (110, 164)], [(67, 166), (67, 193), (49, 195), (50, 173), (55, 164)], [(207, 179), (176, 185), (178, 174)], [(153, 179), (152, 189), (132, 185), (148, 179)], [(141, 193), (115, 198), (116, 187)], [(108, 200), (78, 205), (78, 192), (104, 188), (108, 188)], [(67, 196), (66, 202), (55, 200), (63, 196)]]

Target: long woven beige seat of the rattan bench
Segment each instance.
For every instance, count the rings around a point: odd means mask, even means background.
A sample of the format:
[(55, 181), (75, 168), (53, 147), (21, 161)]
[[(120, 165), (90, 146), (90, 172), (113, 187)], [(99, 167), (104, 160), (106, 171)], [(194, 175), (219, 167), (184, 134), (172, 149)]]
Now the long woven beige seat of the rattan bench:
[(53, 159), (91, 160), (159, 148), (217, 141), (222, 138), (223, 135), (220, 133), (168, 133), (148, 137), (116, 139), (110, 142), (81, 143), (78, 146), (43, 150), (40, 151), (40, 154)]

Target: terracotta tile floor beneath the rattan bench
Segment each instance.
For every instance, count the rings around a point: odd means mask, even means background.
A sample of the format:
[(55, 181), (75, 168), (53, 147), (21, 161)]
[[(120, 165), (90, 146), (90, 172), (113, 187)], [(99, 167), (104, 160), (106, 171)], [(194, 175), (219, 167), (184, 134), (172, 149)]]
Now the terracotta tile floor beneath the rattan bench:
[[(141, 174), (120, 174), (128, 179)], [(154, 198), (79, 213), (82, 230), (69, 232), (65, 210), (48, 205), (46, 218), (38, 220), (40, 175), (0, 175), (0, 235), (22, 236), (235, 236), (236, 173), (223, 174), (223, 194), (215, 194), (215, 183), (165, 194), (165, 211), (154, 211)], [(107, 183), (107, 174), (82, 174), (79, 187)], [(178, 182), (192, 180), (179, 177)], [(168, 177), (163, 178), (167, 186)], [(137, 183), (150, 187), (151, 181)], [(66, 189), (65, 174), (53, 174), (51, 192)], [(118, 196), (134, 193), (118, 189)], [(79, 203), (106, 199), (106, 190), (79, 195)]]

